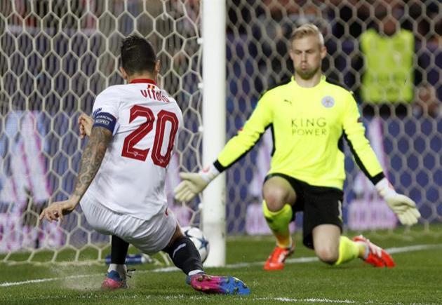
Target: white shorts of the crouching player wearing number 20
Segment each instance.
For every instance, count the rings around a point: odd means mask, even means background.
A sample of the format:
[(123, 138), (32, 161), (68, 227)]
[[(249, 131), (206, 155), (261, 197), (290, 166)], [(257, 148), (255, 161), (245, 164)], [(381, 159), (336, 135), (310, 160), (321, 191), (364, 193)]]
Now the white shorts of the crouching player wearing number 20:
[(87, 195), (81, 198), (80, 205), (93, 229), (106, 235), (119, 236), (148, 255), (166, 248), (178, 225), (175, 215), (168, 209), (149, 220), (143, 220), (109, 210)]

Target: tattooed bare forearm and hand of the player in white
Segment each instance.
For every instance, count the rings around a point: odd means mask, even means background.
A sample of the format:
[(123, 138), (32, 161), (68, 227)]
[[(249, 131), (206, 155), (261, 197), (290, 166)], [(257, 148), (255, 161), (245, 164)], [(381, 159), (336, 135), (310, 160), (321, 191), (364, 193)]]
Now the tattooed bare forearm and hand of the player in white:
[(112, 140), (112, 132), (102, 127), (92, 128), (91, 137), (81, 156), (80, 171), (76, 177), (74, 194), (67, 201), (59, 201), (45, 208), (39, 217), (40, 220), (63, 219), (63, 215), (72, 212), (79, 204), (81, 197), (88, 189), (89, 185), (100, 168), (105, 157), (107, 145)]

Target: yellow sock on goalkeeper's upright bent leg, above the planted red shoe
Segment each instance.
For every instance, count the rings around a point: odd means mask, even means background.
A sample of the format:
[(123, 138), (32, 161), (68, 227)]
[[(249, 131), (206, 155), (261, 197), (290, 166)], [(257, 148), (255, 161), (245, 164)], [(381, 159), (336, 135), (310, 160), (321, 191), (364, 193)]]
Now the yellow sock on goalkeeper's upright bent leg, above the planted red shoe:
[(262, 201), (262, 211), (264, 217), (269, 225), (269, 228), (276, 237), (276, 245), (281, 248), (289, 248), (292, 245), (292, 237), (290, 236), (290, 230), (288, 224), (292, 220), (293, 210), (290, 205), (286, 204), (279, 211), (272, 212), (267, 208), (267, 203)]

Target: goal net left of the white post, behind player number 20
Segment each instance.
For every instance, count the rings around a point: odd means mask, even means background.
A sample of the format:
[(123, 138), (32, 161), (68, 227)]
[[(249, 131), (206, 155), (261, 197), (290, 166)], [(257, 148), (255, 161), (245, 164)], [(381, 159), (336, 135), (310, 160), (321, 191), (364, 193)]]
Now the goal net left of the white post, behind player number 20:
[(81, 151), (76, 119), (123, 83), (119, 47), (129, 34), (152, 42), (160, 86), (180, 105), (185, 130), (166, 181), (180, 223), (199, 225), (197, 203), (173, 201), (178, 172), (200, 166), (201, 46), (198, 1), (6, 0), (0, 3), (0, 260), (103, 259), (109, 236), (77, 208), (61, 224), (37, 224), (50, 201), (72, 193)]

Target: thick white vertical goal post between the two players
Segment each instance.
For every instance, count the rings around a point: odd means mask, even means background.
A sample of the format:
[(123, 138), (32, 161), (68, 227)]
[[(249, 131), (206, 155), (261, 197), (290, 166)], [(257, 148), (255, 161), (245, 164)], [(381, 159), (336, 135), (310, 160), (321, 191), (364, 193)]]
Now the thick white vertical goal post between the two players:
[[(225, 144), (226, 4), (203, 0), (203, 166), (212, 163)], [(224, 266), (226, 257), (225, 175), (203, 192), (203, 232), (210, 241), (206, 266)]]

